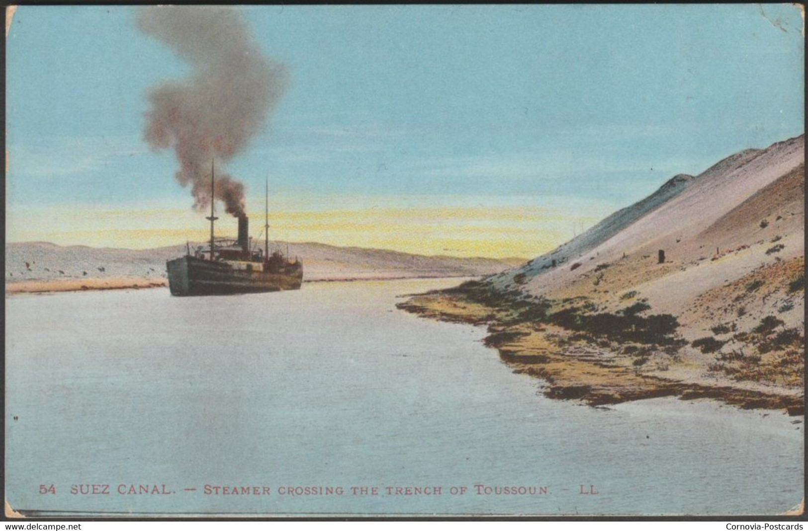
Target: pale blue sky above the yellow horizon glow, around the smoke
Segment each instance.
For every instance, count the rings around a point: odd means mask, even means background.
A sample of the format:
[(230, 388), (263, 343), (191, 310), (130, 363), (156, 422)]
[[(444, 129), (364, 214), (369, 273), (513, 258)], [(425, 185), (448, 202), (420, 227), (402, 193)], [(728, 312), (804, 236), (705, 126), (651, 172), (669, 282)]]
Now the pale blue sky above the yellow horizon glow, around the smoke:
[[(291, 74), (230, 166), (258, 194), (268, 175), (298, 196), (622, 207), (803, 132), (802, 19), (788, 5), (243, 9)], [(190, 207), (174, 154), (141, 140), (145, 90), (187, 71), (137, 31), (131, 7), (20, 7), (7, 40), (10, 206)]]

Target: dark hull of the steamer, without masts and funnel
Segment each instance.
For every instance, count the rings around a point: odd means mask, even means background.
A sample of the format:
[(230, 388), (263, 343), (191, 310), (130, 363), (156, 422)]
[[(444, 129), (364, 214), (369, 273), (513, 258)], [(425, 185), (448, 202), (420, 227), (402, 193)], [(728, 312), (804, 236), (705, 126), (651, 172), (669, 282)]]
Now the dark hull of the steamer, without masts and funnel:
[[(226, 261), (179, 257), (166, 262), (171, 295), (235, 295), (267, 291), (299, 290), (303, 282), (302, 265), (290, 265), (282, 271), (261, 270), (263, 264), (242, 262), (235, 267)], [(255, 269), (254, 269), (255, 267)]]

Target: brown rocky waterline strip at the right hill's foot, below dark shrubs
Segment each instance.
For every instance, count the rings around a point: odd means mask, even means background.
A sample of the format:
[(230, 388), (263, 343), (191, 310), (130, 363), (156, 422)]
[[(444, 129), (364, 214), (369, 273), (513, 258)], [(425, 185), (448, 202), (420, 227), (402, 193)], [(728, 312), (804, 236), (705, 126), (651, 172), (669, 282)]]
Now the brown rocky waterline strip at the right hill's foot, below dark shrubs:
[[(396, 306), (427, 319), (486, 326), (489, 336), (483, 343), (497, 349), (503, 363), (517, 374), (543, 380), (546, 385), (541, 391), (550, 399), (579, 400), (598, 407), (675, 396), (716, 399), (742, 409), (785, 409), (790, 416), (805, 413), (802, 390), (722, 381), (701, 374), (697, 366), (688, 367), (687, 377), (682, 373), (665, 377), (660, 374), (668, 366), (644, 370), (608, 341), (577, 341), (572, 331), (554, 324), (509, 322), (504, 307), (472, 300), (460, 288), (411, 295)], [(687, 366), (665, 356), (660, 353), (654, 362)]]

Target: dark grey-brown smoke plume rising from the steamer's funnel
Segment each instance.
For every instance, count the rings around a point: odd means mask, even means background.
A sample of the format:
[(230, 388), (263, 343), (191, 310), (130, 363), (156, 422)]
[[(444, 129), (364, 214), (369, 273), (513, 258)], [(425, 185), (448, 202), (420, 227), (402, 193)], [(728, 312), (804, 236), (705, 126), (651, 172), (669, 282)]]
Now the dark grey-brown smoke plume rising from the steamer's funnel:
[(244, 185), (220, 169), (261, 131), (284, 93), (287, 72), (261, 52), (241, 12), (221, 6), (149, 6), (137, 26), (193, 67), (186, 79), (149, 90), (145, 140), (175, 148), (177, 181), (191, 185), (194, 207), (210, 206), (210, 165), (217, 161), (215, 199), (244, 212)]

